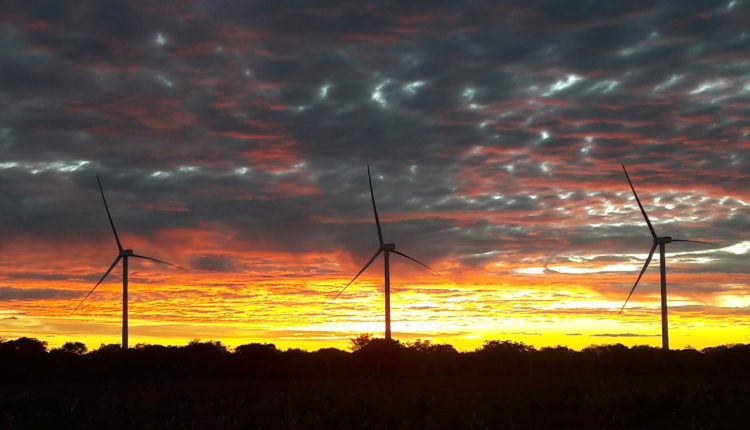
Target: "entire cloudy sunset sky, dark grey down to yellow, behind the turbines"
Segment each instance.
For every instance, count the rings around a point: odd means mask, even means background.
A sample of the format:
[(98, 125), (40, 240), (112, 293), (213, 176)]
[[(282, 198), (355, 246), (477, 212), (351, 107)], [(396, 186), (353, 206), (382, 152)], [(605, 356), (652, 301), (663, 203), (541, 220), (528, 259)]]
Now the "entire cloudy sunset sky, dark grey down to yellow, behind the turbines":
[[(750, 1), (9, 1), (0, 336), (750, 343)], [(658, 254), (657, 254), (658, 255)]]

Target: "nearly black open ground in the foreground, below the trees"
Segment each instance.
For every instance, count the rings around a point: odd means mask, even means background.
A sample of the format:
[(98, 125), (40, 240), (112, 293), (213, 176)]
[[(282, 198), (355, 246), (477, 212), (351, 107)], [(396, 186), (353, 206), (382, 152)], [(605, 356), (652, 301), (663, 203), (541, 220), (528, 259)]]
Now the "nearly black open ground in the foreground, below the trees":
[(748, 410), (747, 380), (706, 376), (0, 385), (6, 429), (745, 429)]

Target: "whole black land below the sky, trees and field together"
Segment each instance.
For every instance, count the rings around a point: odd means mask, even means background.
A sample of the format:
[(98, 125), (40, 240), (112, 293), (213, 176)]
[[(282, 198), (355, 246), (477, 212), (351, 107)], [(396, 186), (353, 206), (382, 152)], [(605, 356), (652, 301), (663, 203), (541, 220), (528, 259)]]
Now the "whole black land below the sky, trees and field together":
[[(133, 429), (747, 429), (750, 347), (488, 342), (355, 352), (251, 344), (119, 351), (0, 343), (0, 427)], [(18, 346), (18, 345), (16, 345)]]

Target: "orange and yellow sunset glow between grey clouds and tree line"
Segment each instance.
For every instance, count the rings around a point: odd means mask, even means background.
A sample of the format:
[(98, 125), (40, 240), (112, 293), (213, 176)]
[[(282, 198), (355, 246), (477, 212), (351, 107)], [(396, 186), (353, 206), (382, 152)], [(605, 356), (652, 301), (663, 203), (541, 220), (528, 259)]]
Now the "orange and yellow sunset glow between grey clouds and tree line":
[[(170, 234), (177, 234), (172, 232)], [(163, 237), (171, 237), (165, 234)], [(192, 232), (191, 238), (221, 249), (230, 238)], [(191, 240), (193, 240), (191, 239)], [(172, 239), (163, 239), (170, 243)], [(148, 245), (148, 243), (145, 243)], [(111, 244), (109, 244), (111, 245)], [(138, 243), (136, 243), (138, 245)], [(43, 242), (29, 242), (39, 251)], [(144, 248), (148, 248), (145, 247)], [(168, 249), (168, 247), (166, 247)], [(90, 349), (120, 342), (120, 269), (73, 316), (68, 314), (92, 287), (109, 263), (95, 247), (82, 246), (82, 259), (24, 267), (49, 277), (43, 286), (67, 291), (69, 298), (5, 301), (0, 312), (0, 336), (37, 337), (60, 346), (82, 341)], [(333, 297), (358, 270), (360, 261), (344, 252), (293, 255), (226, 251), (244, 272), (186, 273), (146, 262), (130, 268), (130, 344), (184, 345), (194, 339), (219, 340), (235, 347), (245, 343), (274, 343), (280, 348), (346, 349), (349, 339), (368, 332), (382, 336), (382, 263), (373, 265), (338, 299)], [(167, 257), (169, 252), (165, 251)], [(157, 255), (162, 257), (162, 255)], [(166, 259), (169, 259), (165, 257)], [(606, 257), (606, 256), (604, 256)], [(565, 345), (574, 349), (593, 344), (661, 343), (658, 273), (644, 275), (622, 314), (619, 309), (632, 287), (638, 267), (586, 256), (568, 264), (535, 267), (514, 264), (501, 254), (483, 256), (483, 265), (465, 270), (454, 261), (437, 262), (439, 276), (425, 274), (405, 262), (392, 265), (392, 329), (394, 337), (412, 342), (429, 339), (459, 350), (480, 347), (487, 340), (513, 340), (537, 348)], [(6, 272), (22, 267), (23, 256), (8, 256)], [(177, 260), (177, 263), (182, 263)], [(27, 266), (29, 263), (25, 263)], [(77, 265), (79, 264), (79, 265)], [(183, 263), (184, 264), (184, 263)], [(536, 264), (539, 264), (536, 262)], [(684, 263), (688, 264), (688, 263)], [(300, 268), (322, 268), (312, 273)], [(529, 270), (533, 269), (533, 270)], [(571, 270), (568, 270), (571, 269)], [(579, 273), (576, 269), (584, 269)], [(65, 270), (65, 280), (54, 276)], [(69, 280), (73, 279), (73, 280)], [(94, 281), (95, 282), (95, 281)], [(4, 283), (15, 289), (37, 288), (20, 278)], [(33, 287), (32, 287), (33, 285)], [(733, 274), (670, 275), (670, 286), (704, 285), (670, 290), (670, 340), (675, 348), (696, 348), (748, 342), (750, 306), (743, 280)], [(721, 286), (722, 293), (715, 293)]]

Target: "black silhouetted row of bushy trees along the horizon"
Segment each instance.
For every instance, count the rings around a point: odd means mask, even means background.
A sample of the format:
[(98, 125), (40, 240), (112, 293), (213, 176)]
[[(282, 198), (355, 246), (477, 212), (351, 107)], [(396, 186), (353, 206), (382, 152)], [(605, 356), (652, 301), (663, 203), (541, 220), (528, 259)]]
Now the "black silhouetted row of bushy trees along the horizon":
[(350, 339), (351, 351), (323, 348), (280, 350), (248, 343), (230, 350), (220, 341), (195, 340), (186, 346), (139, 344), (122, 350), (103, 344), (88, 351), (81, 342), (48, 349), (46, 342), (22, 337), (0, 339), (0, 366), (6, 381), (117, 381), (215, 378), (340, 378), (370, 376), (504, 377), (750, 376), (750, 345), (736, 344), (664, 351), (650, 346), (598, 345), (581, 351), (564, 346), (534, 348), (520, 342), (489, 340), (474, 351), (417, 340)]

